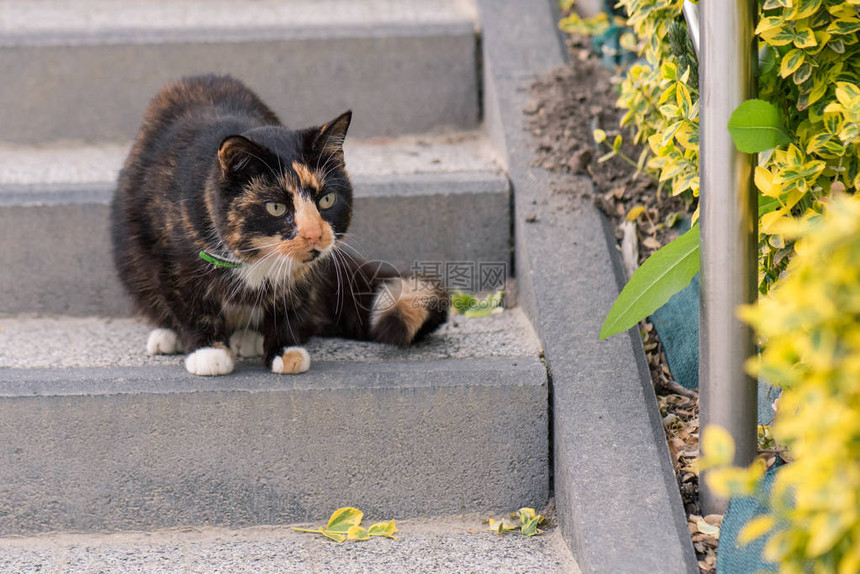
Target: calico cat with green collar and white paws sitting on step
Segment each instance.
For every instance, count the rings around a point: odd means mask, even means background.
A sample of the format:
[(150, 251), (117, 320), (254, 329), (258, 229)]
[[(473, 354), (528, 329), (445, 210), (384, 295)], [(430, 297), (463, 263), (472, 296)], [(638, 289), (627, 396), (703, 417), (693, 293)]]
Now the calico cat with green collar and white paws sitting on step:
[(184, 350), (196, 375), (230, 373), (236, 355), (301, 373), (311, 336), (406, 346), (445, 321), (441, 286), (343, 244), (351, 117), (287, 129), (229, 76), (155, 96), (111, 206), (120, 279), (157, 327), (148, 354)]

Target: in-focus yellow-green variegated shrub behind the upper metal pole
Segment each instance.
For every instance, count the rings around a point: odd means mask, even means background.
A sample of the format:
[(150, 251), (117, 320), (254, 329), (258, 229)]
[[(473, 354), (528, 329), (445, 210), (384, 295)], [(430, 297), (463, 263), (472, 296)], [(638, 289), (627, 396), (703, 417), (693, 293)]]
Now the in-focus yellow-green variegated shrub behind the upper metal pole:
[[(620, 0), (643, 61), (621, 84), (622, 125), (648, 144), (640, 165), (672, 193), (698, 196), (695, 58), (678, 40), (681, 0)], [(673, 33), (675, 33), (673, 35)], [(831, 189), (860, 186), (860, 0), (759, 2), (759, 97), (776, 105), (793, 139), (759, 156), (760, 290), (776, 282), (792, 253), (775, 225), (820, 212)], [(695, 215), (694, 215), (695, 218)]]

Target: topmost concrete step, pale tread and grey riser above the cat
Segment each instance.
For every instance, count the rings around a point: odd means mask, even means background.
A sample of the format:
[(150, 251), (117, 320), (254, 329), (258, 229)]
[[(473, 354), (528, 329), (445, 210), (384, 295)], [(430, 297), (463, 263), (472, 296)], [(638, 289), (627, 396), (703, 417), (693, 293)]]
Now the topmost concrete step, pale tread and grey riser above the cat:
[(479, 121), (473, 0), (0, 0), (0, 141), (123, 141), (149, 99), (229, 73), (287, 125), (360, 136)]

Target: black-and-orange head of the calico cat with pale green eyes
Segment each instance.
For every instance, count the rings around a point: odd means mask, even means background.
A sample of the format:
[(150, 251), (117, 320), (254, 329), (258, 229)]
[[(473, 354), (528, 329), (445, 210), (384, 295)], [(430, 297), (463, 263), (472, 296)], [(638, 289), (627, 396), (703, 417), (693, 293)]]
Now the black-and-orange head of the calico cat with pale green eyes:
[(248, 265), (292, 270), (328, 256), (349, 227), (343, 140), (352, 112), (322, 127), (254, 128), (218, 150), (220, 239)]

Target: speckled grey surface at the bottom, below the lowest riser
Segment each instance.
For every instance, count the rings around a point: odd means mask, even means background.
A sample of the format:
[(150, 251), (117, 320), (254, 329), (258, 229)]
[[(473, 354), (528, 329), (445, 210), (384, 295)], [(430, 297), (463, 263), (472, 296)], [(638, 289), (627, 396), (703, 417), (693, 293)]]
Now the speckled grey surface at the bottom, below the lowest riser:
[[(284, 526), (185, 528), (115, 534), (52, 534), (0, 539), (0, 571), (17, 574), (579, 574), (561, 534), (499, 537), (479, 516), (397, 521), (397, 540), (335, 544)], [(499, 518), (499, 515), (495, 516)], [(324, 524), (325, 517), (313, 524)]]

